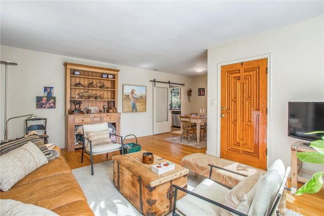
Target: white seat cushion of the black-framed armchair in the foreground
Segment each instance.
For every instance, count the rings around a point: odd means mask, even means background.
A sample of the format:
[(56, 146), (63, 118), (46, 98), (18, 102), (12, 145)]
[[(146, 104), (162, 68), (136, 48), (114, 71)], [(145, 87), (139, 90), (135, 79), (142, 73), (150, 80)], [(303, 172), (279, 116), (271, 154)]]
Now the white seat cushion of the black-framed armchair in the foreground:
[[(207, 197), (219, 203), (223, 203), (224, 197), (229, 189), (217, 184), (216, 182), (205, 179), (192, 192)], [(193, 207), (194, 206), (194, 207)], [(185, 195), (177, 201), (177, 208), (185, 215), (219, 215), (220, 207), (194, 197), (190, 194)]]

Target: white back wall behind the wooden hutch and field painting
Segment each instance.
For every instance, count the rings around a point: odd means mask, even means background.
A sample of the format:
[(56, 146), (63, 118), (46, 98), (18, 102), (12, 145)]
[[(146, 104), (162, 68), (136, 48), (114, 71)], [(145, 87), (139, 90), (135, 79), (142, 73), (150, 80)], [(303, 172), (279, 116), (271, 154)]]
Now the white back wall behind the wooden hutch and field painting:
[[(171, 81), (184, 83), (186, 91), (192, 87), (194, 78), (178, 76), (174, 74), (161, 73), (138, 68), (113, 65), (103, 62), (95, 62), (84, 59), (71, 58), (13, 47), (1, 46), (1, 59), (17, 62), (17, 66), (8, 66), (8, 104), (7, 119), (13, 116), (33, 113), (38, 117), (48, 118), (49, 142), (56, 143), (64, 148), (64, 62), (93, 65), (119, 69), (118, 79), (118, 112), (123, 111), (123, 84), (146, 85), (147, 107), (146, 112), (122, 113), (121, 114), (121, 135), (135, 134), (136, 136), (152, 135), (152, 82)], [(4, 130), (4, 83), (5, 65), (1, 65), (1, 119), (0, 130)], [(45, 86), (54, 87), (56, 97), (56, 109), (36, 109), (36, 96), (42, 96)], [(184, 98), (183, 111), (191, 110)], [(23, 136), (25, 134), (25, 118), (13, 119), (9, 122), (8, 138)], [(143, 129), (145, 133), (143, 133)], [(4, 136), (0, 136), (3, 140)]]

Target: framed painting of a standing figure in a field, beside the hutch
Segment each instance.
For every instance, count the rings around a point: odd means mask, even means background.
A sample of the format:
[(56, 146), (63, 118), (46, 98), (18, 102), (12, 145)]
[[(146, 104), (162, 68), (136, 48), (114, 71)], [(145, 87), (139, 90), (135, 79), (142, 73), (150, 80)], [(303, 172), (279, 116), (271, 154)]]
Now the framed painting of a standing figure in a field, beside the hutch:
[(123, 112), (146, 112), (146, 86), (123, 84)]

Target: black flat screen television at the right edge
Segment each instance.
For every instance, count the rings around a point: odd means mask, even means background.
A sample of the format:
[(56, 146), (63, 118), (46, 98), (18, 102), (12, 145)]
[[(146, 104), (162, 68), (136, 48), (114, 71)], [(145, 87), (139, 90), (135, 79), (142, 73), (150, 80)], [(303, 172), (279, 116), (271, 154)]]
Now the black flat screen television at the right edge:
[(314, 141), (324, 136), (324, 134), (305, 134), (324, 131), (324, 102), (289, 102), (288, 107), (289, 137)]

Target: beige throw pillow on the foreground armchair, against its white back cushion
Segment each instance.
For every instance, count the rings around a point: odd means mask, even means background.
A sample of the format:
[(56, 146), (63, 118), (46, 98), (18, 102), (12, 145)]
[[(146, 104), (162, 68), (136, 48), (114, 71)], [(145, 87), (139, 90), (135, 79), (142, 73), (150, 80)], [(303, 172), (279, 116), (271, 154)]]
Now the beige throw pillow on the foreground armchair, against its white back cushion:
[[(252, 176), (248, 176), (240, 181), (234, 188), (232, 188), (225, 196), (223, 204), (247, 214), (249, 212), (251, 203), (253, 201), (256, 185), (261, 174), (256, 173)], [(233, 215), (232, 212), (225, 209), (221, 209), (221, 215)]]

